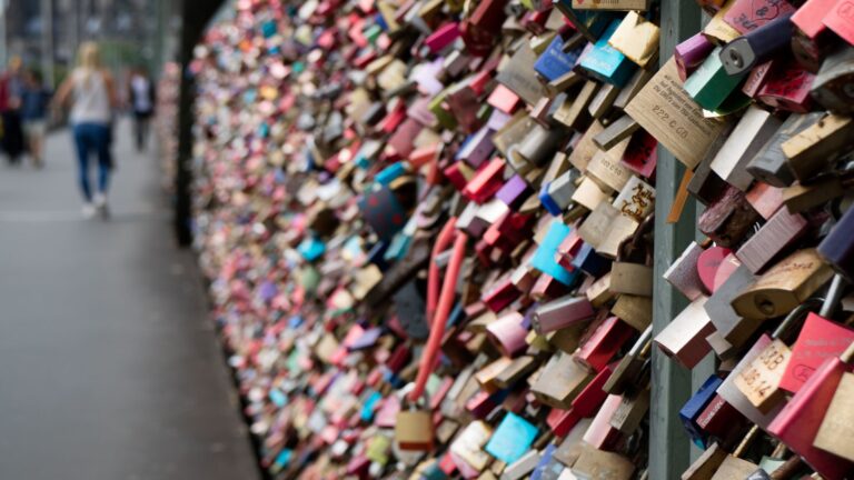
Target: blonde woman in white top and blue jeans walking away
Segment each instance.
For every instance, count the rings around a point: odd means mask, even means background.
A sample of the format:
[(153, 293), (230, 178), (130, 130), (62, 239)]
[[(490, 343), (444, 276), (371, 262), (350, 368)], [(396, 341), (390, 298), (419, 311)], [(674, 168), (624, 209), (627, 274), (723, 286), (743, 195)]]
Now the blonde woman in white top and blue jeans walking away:
[[(78, 64), (57, 91), (56, 107), (71, 103), (71, 127), (77, 146), (80, 189), (83, 193), (83, 216), (108, 214), (107, 188), (110, 158), (110, 122), (118, 106), (116, 87), (109, 71), (101, 68), (100, 52), (95, 42), (85, 42), (78, 52)], [(98, 190), (89, 181), (89, 156), (98, 157)]]

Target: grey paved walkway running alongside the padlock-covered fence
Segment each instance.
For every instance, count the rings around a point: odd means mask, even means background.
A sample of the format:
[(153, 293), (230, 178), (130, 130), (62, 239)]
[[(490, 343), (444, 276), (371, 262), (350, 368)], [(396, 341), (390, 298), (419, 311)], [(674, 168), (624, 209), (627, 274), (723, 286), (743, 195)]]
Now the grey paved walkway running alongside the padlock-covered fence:
[(0, 162), (0, 479), (257, 479), (157, 161), (118, 129), (113, 218), (85, 221), (67, 132)]

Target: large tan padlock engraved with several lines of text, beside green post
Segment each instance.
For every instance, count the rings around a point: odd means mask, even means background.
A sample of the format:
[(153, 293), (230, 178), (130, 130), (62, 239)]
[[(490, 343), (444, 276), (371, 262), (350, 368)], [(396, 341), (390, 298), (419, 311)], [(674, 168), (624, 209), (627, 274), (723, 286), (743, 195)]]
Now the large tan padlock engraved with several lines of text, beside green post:
[(703, 116), (703, 109), (685, 92), (673, 59), (635, 96), (626, 113), (689, 169), (703, 160), (726, 128)]

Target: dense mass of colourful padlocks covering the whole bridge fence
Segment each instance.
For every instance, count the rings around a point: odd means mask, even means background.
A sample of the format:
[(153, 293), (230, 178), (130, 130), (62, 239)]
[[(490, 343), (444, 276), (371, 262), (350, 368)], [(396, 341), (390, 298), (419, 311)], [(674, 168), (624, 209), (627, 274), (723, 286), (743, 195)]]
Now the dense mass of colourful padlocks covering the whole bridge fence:
[[(683, 479), (854, 478), (854, 3), (699, 1), (665, 50), (687, 1), (237, 0), (209, 28), (196, 243), (271, 478), (661, 480), (653, 354), (716, 357)], [(654, 267), (692, 198), (698, 241)], [(654, 329), (656, 284), (688, 302)]]

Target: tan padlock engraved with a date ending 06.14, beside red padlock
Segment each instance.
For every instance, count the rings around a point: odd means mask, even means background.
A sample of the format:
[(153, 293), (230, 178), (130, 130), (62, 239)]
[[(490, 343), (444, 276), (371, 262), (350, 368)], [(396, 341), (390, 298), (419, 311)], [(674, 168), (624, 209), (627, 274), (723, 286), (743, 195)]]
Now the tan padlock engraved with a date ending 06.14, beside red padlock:
[(784, 392), (779, 382), (792, 358), (792, 351), (781, 337), (803, 321), (815, 303), (807, 300), (792, 310), (771, 338), (763, 339), (763, 342), (769, 341), (768, 346), (735, 378), (736, 388), (759, 411), (768, 412), (783, 401)]

